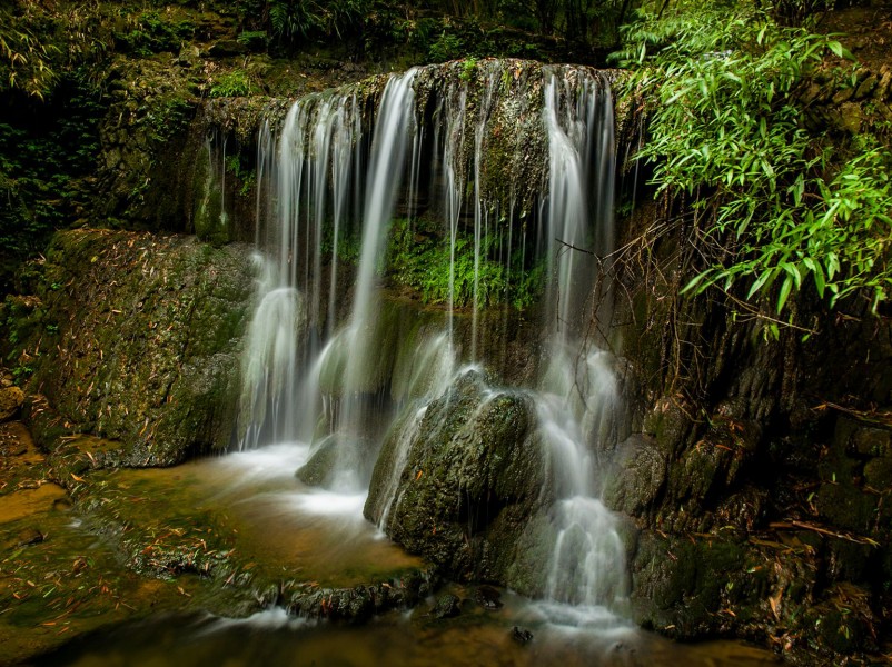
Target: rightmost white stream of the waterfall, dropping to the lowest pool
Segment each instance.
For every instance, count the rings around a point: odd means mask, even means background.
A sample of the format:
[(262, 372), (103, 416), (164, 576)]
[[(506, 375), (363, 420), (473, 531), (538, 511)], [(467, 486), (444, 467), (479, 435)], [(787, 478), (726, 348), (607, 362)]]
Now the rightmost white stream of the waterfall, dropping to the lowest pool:
[[(575, 84), (573, 84), (575, 83)], [(613, 242), (613, 103), (609, 89), (551, 74), (544, 115), (549, 145), (547, 243), (552, 316), (539, 421), (551, 447), (558, 498), (557, 539), (546, 596), (555, 603), (609, 605), (626, 595), (625, 551), (614, 515), (598, 499), (597, 452), (617, 407), (611, 357), (588, 339), (597, 265)], [(594, 169), (592, 169), (594, 167)], [(594, 225), (591, 221), (594, 219)]]

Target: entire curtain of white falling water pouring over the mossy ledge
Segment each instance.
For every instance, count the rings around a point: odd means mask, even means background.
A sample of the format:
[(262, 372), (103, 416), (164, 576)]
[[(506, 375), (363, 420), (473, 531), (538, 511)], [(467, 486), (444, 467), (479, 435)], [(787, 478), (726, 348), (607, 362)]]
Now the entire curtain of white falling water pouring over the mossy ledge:
[[(617, 390), (611, 356), (589, 338), (591, 320), (605, 312), (593, 287), (598, 258), (613, 238), (609, 87), (579, 68), (477, 67), (474, 78), (445, 81), (436, 68), (392, 76), (373, 103), (357, 89), (310, 96), (277, 136), (265, 125), (257, 211), (269, 220), (258, 222), (267, 259), (246, 351), (241, 444), (313, 442), (307, 465), (328, 461), (314, 479), (356, 492), (390, 430), (384, 525), (427, 406), (460, 360), (493, 360), (496, 348), (482, 342), (487, 299), (544, 267), (546, 355), (527, 390), (556, 497), (544, 589), (553, 603), (611, 604), (625, 594), (625, 567), (614, 518), (597, 499), (597, 451), (616, 436)], [(375, 116), (364, 117), (369, 109)], [(498, 171), (493, 155), (511, 156), (508, 167)], [(360, 188), (364, 198), (350, 196)], [(445, 309), (420, 325), (406, 326), (379, 289), (397, 211), (410, 226), (438, 219), (448, 245)], [(493, 275), (502, 280), (495, 297)], [(339, 287), (348, 277), (351, 299)]]

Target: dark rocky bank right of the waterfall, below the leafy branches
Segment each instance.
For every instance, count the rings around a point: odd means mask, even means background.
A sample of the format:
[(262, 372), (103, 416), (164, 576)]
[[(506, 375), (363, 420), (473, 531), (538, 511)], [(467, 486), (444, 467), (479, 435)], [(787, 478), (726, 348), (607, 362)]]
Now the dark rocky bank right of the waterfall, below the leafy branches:
[[(665, 216), (640, 210), (628, 238)], [(873, 654), (892, 608), (892, 328), (861, 301), (834, 317), (805, 293), (793, 322), (817, 332), (774, 339), (740, 302), (680, 297), (688, 232), (676, 222), (646, 261), (617, 266), (634, 434), (605, 501), (640, 530), (633, 617), (803, 664)]]

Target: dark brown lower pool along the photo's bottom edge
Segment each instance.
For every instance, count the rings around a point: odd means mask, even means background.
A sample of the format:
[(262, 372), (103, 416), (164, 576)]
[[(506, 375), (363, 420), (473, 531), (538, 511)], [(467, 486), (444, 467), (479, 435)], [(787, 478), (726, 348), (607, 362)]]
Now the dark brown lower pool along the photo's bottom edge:
[[(443, 621), (419, 608), (363, 627), (310, 624), (281, 610), (246, 620), (212, 617), (156, 618), (80, 640), (38, 665), (248, 667), (405, 665), (434, 667), (757, 667), (776, 665), (770, 653), (721, 641), (680, 645), (628, 627), (581, 631), (532, 619), (528, 603), (506, 596), (499, 611), (480, 609)], [(521, 645), (511, 637), (517, 620), (534, 634)]]

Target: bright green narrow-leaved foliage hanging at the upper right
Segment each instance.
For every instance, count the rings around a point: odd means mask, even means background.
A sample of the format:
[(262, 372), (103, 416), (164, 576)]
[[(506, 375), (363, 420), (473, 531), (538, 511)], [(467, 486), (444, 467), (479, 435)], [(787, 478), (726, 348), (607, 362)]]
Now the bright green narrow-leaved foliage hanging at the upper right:
[(800, 126), (796, 91), (829, 53), (849, 57), (839, 42), (747, 3), (683, 3), (626, 39), (620, 57), (640, 68), (630, 92), (655, 101), (641, 157), (658, 195), (694, 198), (710, 258), (685, 289), (742, 281), (752, 298), (776, 286), (779, 312), (809, 278), (831, 306), (865, 288), (874, 308), (892, 296), (889, 151), (834, 168), (824, 138)]

